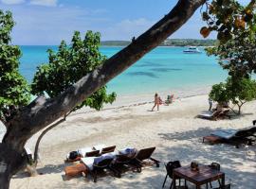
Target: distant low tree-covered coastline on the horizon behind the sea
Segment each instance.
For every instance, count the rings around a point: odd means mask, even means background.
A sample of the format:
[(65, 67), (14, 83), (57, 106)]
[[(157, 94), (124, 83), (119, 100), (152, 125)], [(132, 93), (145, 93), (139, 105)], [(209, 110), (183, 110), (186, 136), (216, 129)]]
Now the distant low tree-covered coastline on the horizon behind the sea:
[[(167, 39), (160, 46), (213, 46), (216, 40)], [(102, 41), (103, 46), (126, 46), (130, 41)]]

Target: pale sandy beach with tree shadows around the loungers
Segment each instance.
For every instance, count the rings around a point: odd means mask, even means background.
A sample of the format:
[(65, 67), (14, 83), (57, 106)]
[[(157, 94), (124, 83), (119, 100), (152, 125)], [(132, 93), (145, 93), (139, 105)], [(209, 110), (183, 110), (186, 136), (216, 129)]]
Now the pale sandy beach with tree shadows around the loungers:
[[(65, 180), (66, 153), (98, 144), (116, 145), (118, 149), (156, 146), (154, 157), (163, 162), (179, 160), (183, 165), (194, 160), (199, 163), (217, 162), (232, 188), (255, 188), (255, 146), (210, 146), (202, 144), (202, 137), (215, 129), (250, 126), (256, 118), (256, 101), (245, 104), (244, 116), (219, 121), (194, 118), (198, 112), (208, 109), (207, 95), (176, 99), (170, 106), (161, 106), (159, 112), (150, 112), (152, 103), (141, 104), (71, 114), (64, 124), (48, 132), (41, 143), (38, 169), (43, 175), (29, 178), (25, 173), (18, 174), (11, 180), (10, 188), (161, 188), (166, 174), (163, 163), (159, 168), (145, 167), (141, 173), (126, 172), (121, 179), (107, 176), (97, 183), (90, 177)], [(33, 148), (33, 144), (35, 137), (27, 146)], [(170, 180), (166, 185), (169, 187)]]

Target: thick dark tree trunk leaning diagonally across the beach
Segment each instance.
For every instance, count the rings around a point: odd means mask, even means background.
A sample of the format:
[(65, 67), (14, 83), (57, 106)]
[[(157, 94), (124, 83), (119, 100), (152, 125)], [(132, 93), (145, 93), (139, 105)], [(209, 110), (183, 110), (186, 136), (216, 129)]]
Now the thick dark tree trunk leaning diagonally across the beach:
[(18, 112), (9, 121), (9, 127), (2, 142), (7, 153), (2, 153), (0, 148), (0, 163), (3, 164), (0, 166), (0, 187), (8, 188), (11, 175), (15, 174), (26, 163), (23, 151), (31, 136), (67, 112), (72, 111), (77, 104), (162, 43), (180, 26), (184, 25), (194, 11), (205, 2), (206, 0), (179, 0), (174, 9), (155, 26), (152, 26), (133, 43), (106, 60), (96, 70), (82, 77), (63, 94), (49, 100), (39, 97)]

